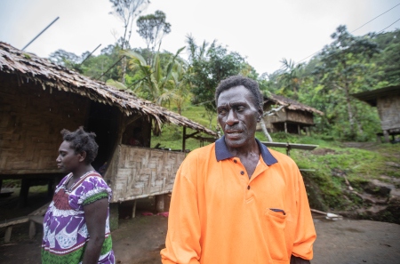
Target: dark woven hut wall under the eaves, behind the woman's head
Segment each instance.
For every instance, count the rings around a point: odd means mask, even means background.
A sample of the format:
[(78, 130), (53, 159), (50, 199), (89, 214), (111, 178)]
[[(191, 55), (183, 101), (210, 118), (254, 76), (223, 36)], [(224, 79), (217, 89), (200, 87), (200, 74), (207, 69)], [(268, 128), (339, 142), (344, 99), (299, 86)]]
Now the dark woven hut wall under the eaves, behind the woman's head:
[(60, 131), (84, 124), (88, 102), (0, 74), (0, 174), (59, 172)]

